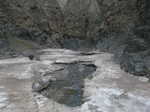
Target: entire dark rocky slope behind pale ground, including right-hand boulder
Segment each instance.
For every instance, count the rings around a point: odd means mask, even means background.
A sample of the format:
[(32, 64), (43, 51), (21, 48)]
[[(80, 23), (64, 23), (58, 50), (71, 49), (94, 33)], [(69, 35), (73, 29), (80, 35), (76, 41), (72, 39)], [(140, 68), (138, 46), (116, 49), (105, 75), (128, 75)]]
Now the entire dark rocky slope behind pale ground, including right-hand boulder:
[(149, 0), (0, 0), (0, 53), (16, 56), (43, 47), (99, 49), (113, 52), (126, 71), (149, 76), (149, 4)]

